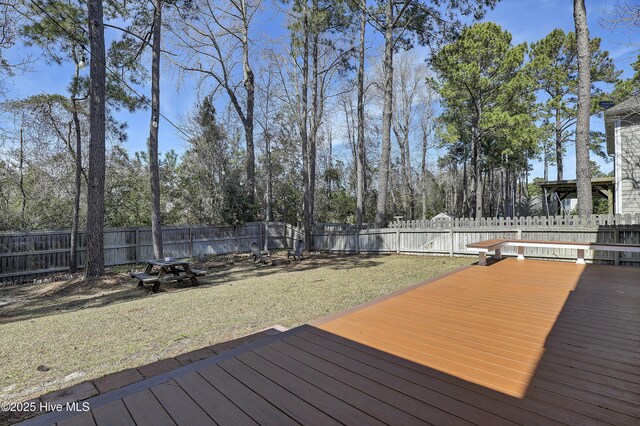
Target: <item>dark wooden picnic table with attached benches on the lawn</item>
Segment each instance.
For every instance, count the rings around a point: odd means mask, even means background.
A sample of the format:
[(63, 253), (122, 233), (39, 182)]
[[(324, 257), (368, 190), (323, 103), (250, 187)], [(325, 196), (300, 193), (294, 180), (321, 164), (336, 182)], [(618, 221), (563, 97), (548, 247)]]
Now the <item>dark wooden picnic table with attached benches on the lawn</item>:
[(188, 279), (192, 285), (197, 286), (197, 277), (205, 274), (203, 270), (192, 268), (190, 262), (184, 259), (150, 259), (146, 263), (144, 272), (132, 272), (131, 277), (138, 279), (138, 287), (147, 283), (153, 284), (154, 293), (160, 289), (160, 284), (167, 281), (181, 282)]

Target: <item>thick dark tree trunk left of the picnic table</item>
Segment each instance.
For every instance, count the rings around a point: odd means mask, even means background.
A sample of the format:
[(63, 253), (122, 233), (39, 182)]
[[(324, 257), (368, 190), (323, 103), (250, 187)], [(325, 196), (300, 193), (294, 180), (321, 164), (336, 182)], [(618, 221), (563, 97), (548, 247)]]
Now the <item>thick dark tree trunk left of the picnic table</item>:
[(89, 45), (89, 184), (87, 185), (86, 277), (104, 272), (105, 49), (102, 1), (88, 1)]

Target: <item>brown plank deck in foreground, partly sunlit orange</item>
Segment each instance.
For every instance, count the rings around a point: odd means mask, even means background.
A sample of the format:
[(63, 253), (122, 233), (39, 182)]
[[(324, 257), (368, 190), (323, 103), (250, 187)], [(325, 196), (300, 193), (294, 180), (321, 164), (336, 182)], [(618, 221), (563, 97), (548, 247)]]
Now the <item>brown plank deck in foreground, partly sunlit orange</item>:
[(640, 424), (640, 271), (507, 259), (31, 424)]

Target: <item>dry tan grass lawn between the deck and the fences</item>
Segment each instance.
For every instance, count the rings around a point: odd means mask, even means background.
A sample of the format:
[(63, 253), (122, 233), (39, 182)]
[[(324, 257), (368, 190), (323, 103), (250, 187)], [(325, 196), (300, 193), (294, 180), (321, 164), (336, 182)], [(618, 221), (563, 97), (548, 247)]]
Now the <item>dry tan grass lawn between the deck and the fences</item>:
[(220, 259), (197, 265), (209, 269), (199, 287), (163, 285), (157, 294), (136, 288), (125, 269), (92, 283), (0, 288), (0, 400), (23, 401), (273, 324), (295, 327), (472, 261), (313, 255), (256, 266), (247, 256)]

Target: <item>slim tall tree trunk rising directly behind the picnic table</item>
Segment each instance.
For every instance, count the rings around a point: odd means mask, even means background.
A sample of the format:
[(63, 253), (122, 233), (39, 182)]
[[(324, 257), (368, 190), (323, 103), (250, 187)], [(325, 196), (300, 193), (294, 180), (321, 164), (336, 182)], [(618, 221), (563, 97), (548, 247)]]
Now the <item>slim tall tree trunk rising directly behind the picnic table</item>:
[(153, 1), (153, 40), (151, 45), (151, 123), (149, 124), (149, 179), (151, 184), (151, 236), (153, 255), (164, 257), (160, 214), (160, 170), (158, 166), (158, 129), (160, 127), (160, 37), (162, 0)]

